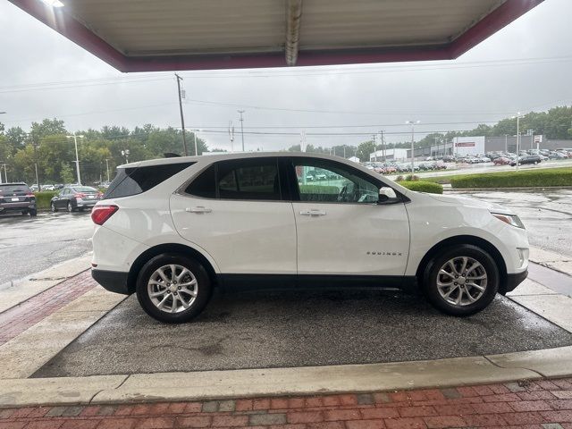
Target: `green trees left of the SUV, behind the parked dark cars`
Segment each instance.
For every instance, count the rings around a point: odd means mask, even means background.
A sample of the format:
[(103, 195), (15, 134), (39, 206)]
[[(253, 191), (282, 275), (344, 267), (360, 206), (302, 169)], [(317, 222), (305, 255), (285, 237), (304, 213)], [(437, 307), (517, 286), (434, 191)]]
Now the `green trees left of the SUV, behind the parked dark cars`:
[[(182, 132), (161, 129), (151, 124), (129, 130), (105, 126), (101, 130), (76, 131), (80, 176), (83, 184), (95, 184), (114, 178), (115, 167), (127, 161), (163, 157), (165, 153), (181, 154)], [(194, 136), (186, 132), (189, 155), (195, 155)], [(197, 137), (198, 155), (208, 148)], [(126, 152), (129, 155), (126, 156)], [(32, 122), (29, 132), (21, 127), (5, 129), (0, 123), (0, 164), (6, 164), (9, 181), (36, 183), (36, 165), (40, 183), (75, 183), (75, 146), (64, 122), (45, 119)], [(4, 180), (4, 174), (3, 174)]]

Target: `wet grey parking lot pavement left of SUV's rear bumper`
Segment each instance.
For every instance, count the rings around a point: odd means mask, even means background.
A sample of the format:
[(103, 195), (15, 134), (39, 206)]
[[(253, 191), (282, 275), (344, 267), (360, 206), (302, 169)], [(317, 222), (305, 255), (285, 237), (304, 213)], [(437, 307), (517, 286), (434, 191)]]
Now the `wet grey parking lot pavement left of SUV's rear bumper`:
[(0, 216), (0, 286), (91, 250), (89, 213)]

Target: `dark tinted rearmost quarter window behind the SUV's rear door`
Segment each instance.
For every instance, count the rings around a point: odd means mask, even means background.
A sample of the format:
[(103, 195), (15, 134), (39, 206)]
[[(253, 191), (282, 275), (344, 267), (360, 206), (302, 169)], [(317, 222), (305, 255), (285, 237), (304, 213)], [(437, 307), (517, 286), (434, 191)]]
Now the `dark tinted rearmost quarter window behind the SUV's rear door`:
[(149, 165), (146, 167), (120, 168), (109, 185), (103, 199), (137, 195), (155, 188), (194, 163)]

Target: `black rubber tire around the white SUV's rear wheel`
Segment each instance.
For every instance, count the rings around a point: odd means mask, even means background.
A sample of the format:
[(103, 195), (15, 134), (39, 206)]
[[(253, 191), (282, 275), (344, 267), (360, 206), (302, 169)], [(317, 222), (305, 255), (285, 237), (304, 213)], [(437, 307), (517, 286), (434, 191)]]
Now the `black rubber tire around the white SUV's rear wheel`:
[[(149, 297), (147, 283), (151, 280), (153, 273), (156, 273), (156, 270), (164, 265), (181, 265), (194, 275), (197, 281), (197, 295), (192, 303), (190, 303), (189, 308), (177, 313), (170, 313), (156, 307)], [(211, 297), (212, 285), (205, 268), (195, 259), (176, 254), (162, 254), (153, 257), (147, 264), (143, 265), (137, 278), (136, 293), (139, 304), (143, 307), (147, 315), (166, 324), (182, 324), (189, 322), (203, 311)]]

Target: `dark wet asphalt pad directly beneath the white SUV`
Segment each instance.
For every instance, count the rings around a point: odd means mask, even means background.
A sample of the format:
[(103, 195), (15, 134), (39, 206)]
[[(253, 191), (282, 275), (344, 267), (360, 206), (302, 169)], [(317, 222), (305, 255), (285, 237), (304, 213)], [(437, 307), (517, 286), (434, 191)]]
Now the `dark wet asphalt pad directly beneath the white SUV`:
[(544, 349), (572, 334), (499, 297), (467, 318), (380, 290), (215, 296), (189, 324), (169, 325), (126, 299), (33, 377), (324, 366)]

